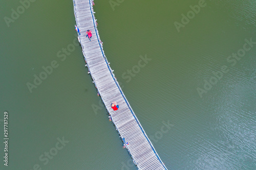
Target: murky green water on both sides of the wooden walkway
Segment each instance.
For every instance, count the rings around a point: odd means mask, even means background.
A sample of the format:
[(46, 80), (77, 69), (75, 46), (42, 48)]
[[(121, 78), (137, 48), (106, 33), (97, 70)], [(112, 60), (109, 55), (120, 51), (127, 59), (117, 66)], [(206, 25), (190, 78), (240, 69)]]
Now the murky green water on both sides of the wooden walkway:
[[(256, 169), (256, 44), (245, 45), (250, 50), (239, 60), (229, 58), (242, 52), (245, 39), (256, 42), (256, 2), (205, 1), (180, 32), (175, 21), (182, 24), (181, 14), (199, 1), (118, 2), (112, 8), (95, 1), (103, 49), (166, 167)], [(87, 74), (81, 47), (72, 46), (72, 1), (37, 0), (8, 27), (4, 17), (19, 6), (0, 2), (0, 169), (136, 169)], [(75, 48), (59, 58), (67, 47)], [(52, 62), (56, 68), (30, 92), (27, 83)], [(221, 79), (212, 71), (222, 71)]]

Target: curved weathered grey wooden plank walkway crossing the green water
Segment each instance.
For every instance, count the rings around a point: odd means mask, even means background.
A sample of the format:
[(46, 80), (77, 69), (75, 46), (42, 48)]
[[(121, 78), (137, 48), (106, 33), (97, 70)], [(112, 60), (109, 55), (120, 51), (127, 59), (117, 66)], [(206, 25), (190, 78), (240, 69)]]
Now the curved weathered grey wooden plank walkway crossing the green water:
[[(105, 57), (97, 30), (93, 1), (73, 0), (73, 2), (76, 24), (80, 30), (78, 37), (84, 60), (87, 63), (86, 66), (126, 149), (138, 169), (167, 169), (140, 125), (132, 107), (126, 100)], [(87, 30), (92, 31), (91, 41), (86, 37)], [(119, 105), (117, 111), (111, 108), (111, 103), (114, 101)], [(129, 142), (129, 144), (127, 145), (126, 142)]]

